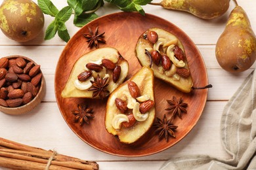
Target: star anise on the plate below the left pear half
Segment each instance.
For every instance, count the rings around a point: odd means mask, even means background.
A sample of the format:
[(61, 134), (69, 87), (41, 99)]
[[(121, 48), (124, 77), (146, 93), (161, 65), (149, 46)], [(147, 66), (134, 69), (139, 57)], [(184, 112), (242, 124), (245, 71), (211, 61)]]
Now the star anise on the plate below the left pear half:
[(89, 108), (88, 105), (77, 105), (77, 110), (72, 110), (72, 113), (75, 115), (74, 121), (79, 122), (79, 126), (82, 126), (83, 123), (89, 124), (89, 119), (94, 118), (93, 109)]

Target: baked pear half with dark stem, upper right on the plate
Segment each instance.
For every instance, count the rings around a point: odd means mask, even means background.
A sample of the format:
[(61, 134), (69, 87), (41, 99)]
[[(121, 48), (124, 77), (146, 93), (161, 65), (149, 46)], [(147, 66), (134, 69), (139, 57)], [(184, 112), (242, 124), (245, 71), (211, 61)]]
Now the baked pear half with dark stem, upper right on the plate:
[(135, 55), (140, 65), (150, 65), (154, 76), (189, 93), (193, 81), (184, 47), (177, 37), (161, 28), (146, 30), (137, 41)]

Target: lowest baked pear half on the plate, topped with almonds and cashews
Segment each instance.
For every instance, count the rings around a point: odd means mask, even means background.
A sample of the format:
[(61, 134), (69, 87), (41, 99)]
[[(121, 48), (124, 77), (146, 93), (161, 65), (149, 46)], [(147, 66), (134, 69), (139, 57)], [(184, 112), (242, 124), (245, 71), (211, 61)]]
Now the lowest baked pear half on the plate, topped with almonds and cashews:
[(154, 73), (150, 67), (142, 67), (108, 98), (106, 130), (121, 143), (134, 143), (150, 129), (155, 112)]

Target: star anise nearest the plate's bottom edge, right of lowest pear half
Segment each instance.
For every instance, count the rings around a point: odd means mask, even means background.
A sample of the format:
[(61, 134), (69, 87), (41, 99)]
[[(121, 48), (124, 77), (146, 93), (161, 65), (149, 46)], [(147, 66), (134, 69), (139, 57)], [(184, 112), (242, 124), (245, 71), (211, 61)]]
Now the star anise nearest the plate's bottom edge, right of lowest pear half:
[(161, 139), (161, 137), (165, 137), (165, 141), (168, 142), (169, 136), (175, 138), (174, 131), (177, 129), (178, 126), (175, 126), (171, 122), (171, 118), (167, 120), (166, 114), (163, 115), (163, 119), (156, 118), (158, 120), (158, 123), (154, 124), (154, 127), (156, 127), (156, 131), (160, 131), (158, 138)]

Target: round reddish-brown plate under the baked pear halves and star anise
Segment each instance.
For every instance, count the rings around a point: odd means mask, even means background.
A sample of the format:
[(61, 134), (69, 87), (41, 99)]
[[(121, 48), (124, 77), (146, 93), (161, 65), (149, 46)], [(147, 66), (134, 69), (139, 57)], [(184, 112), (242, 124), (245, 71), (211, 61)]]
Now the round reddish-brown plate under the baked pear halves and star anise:
[[(112, 46), (119, 50), (120, 54), (129, 61), (130, 69), (127, 78), (130, 78), (141, 68), (139, 61), (135, 57), (135, 44), (139, 36), (150, 27), (166, 29), (176, 35), (184, 45), (194, 80), (194, 86), (205, 86), (208, 83), (207, 71), (198, 48), (196, 48), (196, 45), (188, 35), (176, 25), (152, 14), (142, 16), (136, 12), (119, 12), (102, 16), (82, 27), (74, 37), (70, 39), (56, 66), (54, 82), (56, 101), (68, 126), (70, 126), (74, 133), (85, 141), (85, 143), (102, 152), (117, 156), (147, 156), (161, 152), (181, 141), (192, 127), (196, 125), (196, 122), (198, 122), (207, 99), (207, 90), (194, 90), (190, 93), (182, 93), (156, 79), (154, 89), (156, 116), (162, 118), (163, 114), (167, 114), (168, 118), (170, 118), (171, 114), (165, 111), (167, 107), (166, 99), (172, 99), (173, 95), (182, 97), (184, 102), (188, 103), (188, 113), (182, 115), (182, 120), (175, 118), (174, 124), (179, 126), (175, 133), (176, 138), (169, 138), (169, 142), (166, 142), (165, 139), (159, 140), (158, 134), (155, 133), (155, 129), (152, 127), (142, 139), (134, 144), (122, 144), (116, 137), (106, 131), (104, 116), (107, 99), (64, 99), (61, 97), (61, 92), (70, 76), (75, 61), (82, 54), (92, 50), (87, 48), (87, 39), (83, 37), (84, 33), (89, 32), (88, 27), (93, 31), (98, 27), (99, 33), (105, 32), (104, 39), (106, 40), (106, 44), (99, 44), (99, 47)], [(93, 108), (95, 118), (91, 120), (89, 124), (79, 126), (79, 124), (74, 123), (74, 115), (71, 111), (77, 109), (78, 103), (87, 104), (89, 107)]]

